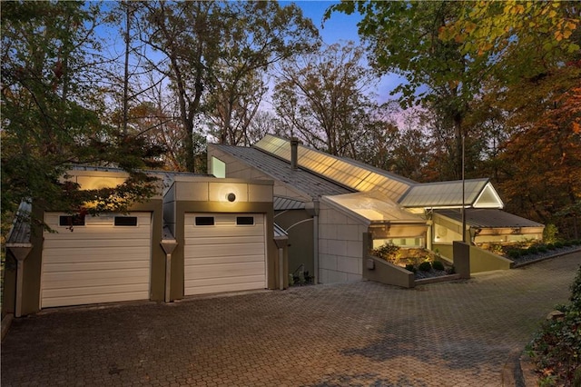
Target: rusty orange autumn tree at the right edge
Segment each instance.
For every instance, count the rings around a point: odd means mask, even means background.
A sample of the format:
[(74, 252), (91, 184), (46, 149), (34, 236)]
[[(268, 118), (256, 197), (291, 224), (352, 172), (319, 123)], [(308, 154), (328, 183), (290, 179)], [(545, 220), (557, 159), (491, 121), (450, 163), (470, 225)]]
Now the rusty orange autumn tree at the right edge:
[(497, 157), (497, 186), (507, 197), (507, 209), (555, 223), (564, 235), (575, 238), (581, 216), (579, 79), (569, 90), (550, 97), (546, 89), (553, 88), (553, 77), (522, 89), (529, 92), (531, 103), (537, 99), (536, 113), (511, 114), (507, 125), (512, 134)]

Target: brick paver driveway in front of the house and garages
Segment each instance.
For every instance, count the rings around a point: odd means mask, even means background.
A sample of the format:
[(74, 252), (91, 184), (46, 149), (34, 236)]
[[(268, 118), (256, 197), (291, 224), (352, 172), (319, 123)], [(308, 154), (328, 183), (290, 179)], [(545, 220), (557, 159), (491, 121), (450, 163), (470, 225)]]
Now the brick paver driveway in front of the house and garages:
[(2, 385), (499, 386), (579, 264), (44, 312), (13, 323)]

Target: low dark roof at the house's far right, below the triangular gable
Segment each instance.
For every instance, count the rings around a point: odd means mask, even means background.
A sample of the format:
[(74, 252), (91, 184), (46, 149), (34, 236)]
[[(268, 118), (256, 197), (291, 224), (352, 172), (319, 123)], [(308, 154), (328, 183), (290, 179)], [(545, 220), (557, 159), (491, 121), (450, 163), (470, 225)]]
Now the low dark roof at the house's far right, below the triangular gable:
[[(462, 222), (462, 213), (458, 209), (434, 210), (434, 213)], [(466, 223), (477, 228), (544, 227), (541, 223), (493, 208), (468, 209)]]

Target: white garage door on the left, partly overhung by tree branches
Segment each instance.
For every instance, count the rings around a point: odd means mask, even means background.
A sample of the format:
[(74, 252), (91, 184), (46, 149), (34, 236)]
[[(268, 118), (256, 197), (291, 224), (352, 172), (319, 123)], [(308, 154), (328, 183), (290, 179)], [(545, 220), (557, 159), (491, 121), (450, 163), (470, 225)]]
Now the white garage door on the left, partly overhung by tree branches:
[(41, 308), (150, 298), (151, 213), (44, 222), (58, 233), (44, 232)]

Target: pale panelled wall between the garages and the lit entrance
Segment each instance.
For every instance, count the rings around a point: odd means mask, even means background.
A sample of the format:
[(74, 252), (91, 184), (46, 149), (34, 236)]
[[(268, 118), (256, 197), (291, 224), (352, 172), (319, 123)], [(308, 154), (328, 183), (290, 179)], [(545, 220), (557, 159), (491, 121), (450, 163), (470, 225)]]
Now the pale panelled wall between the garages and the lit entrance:
[(360, 281), (363, 268), (363, 233), (368, 225), (330, 203), (321, 201), (319, 214), (319, 281)]

